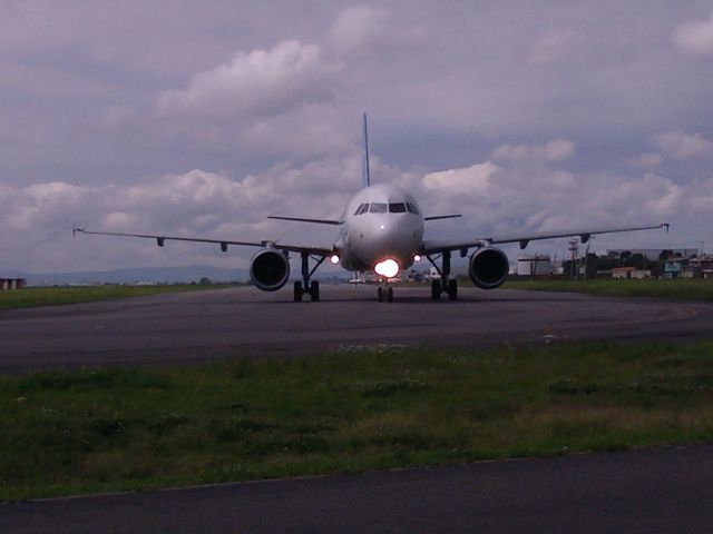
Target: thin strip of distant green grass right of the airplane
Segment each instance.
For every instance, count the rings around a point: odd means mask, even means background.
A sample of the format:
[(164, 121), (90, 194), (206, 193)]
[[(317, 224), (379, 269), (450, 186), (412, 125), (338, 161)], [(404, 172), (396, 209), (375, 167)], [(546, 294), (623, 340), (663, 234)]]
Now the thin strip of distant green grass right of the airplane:
[(516, 280), (502, 287), (538, 291), (570, 291), (626, 297), (677, 298), (683, 300), (713, 301), (713, 280), (699, 279), (647, 279), (625, 280), (598, 278), (594, 280)]

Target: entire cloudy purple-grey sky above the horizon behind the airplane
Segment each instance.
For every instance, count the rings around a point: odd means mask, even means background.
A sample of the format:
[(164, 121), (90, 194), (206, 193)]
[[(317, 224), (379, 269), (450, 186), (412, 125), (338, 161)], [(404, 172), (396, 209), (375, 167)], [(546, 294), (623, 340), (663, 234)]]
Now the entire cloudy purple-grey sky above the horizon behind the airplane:
[(427, 238), (713, 250), (712, 96), (710, 1), (0, 0), (0, 275), (254, 254), (75, 225), (331, 246), (265, 217), (342, 214), (364, 111), (372, 181), (463, 215)]

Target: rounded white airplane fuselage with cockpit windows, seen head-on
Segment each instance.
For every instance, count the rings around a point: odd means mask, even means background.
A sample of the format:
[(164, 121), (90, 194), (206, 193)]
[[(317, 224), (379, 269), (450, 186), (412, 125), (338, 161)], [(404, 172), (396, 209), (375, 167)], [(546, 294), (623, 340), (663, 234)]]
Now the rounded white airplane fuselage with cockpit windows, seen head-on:
[(392, 259), (399, 270), (413, 264), (423, 243), (423, 215), (416, 198), (398, 186), (379, 184), (351, 199), (334, 245), (346, 270), (374, 270)]

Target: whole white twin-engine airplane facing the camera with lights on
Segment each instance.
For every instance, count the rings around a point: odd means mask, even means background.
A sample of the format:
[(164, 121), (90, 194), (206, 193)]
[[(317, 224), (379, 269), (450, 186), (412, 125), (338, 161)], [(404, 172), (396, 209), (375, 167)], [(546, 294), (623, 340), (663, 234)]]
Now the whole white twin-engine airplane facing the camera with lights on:
[[(642, 225), (628, 227), (590, 228), (584, 230), (522, 233), (516, 235), (488, 235), (470, 239), (424, 239), (424, 222), (461, 217), (460, 214), (424, 216), (417, 199), (409, 191), (391, 184), (371, 184), (369, 171), (369, 137), (367, 113), (363, 115), (363, 156), (362, 185), (346, 205), (342, 217), (336, 220), (305, 217), (271, 216), (270, 219), (300, 221), (339, 227), (339, 235), (330, 246), (289, 245), (282, 241), (242, 241), (232, 239), (208, 239), (201, 237), (180, 237), (156, 234), (126, 234), (113, 231), (91, 231), (75, 228), (75, 236), (92, 234), (102, 236), (125, 236), (155, 239), (159, 247), (165, 241), (194, 241), (217, 244), (221, 250), (228, 246), (258, 247), (250, 267), (250, 277), (255, 287), (263, 291), (276, 291), (290, 279), (290, 254), (299, 254), (301, 277), (294, 281), (293, 299), (302, 301), (305, 295), (312, 301), (320, 300), (320, 283), (313, 280), (316, 269), (329, 258), (334, 265), (341, 265), (350, 271), (374, 271), (385, 283), (377, 289), (377, 300), (393, 301), (393, 287), (390, 284), (401, 270), (426, 258), (436, 267), (439, 277), (431, 280), (431, 299), (439, 300), (442, 294), (448, 299), (458, 298), (458, 283), (451, 277), (451, 255), (468, 256), (468, 275), (471, 281), (482, 289), (495, 289), (502, 285), (509, 261), (506, 254), (494, 245), (519, 244), (525, 249), (530, 241), (559, 237), (578, 236), (582, 243), (597, 234), (636, 231), (666, 228), (668, 224)], [(440, 261), (439, 261), (440, 260)], [(311, 263), (312, 261), (312, 265)], [(439, 265), (440, 263), (440, 265)]]

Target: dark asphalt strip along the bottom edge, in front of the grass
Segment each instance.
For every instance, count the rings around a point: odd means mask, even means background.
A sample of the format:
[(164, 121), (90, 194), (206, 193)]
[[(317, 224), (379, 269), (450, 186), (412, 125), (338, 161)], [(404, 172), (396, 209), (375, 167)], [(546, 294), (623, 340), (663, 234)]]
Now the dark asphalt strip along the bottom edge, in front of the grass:
[(0, 504), (2, 533), (707, 533), (713, 445)]

